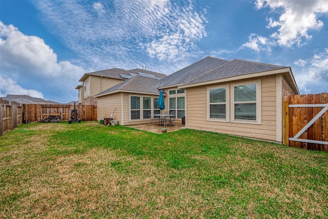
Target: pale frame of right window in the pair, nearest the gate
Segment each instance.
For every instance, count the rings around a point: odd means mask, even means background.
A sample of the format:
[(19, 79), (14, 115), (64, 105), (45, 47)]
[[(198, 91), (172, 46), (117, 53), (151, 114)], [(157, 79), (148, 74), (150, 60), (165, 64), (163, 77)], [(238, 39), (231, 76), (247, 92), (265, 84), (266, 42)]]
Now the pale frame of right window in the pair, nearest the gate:
[[(236, 120), (235, 119), (235, 86), (241, 85), (250, 85), (256, 84), (256, 120)], [(247, 81), (247, 82), (238, 82), (230, 84), (230, 93), (231, 93), (231, 114), (230, 114), (230, 121), (232, 123), (245, 123), (245, 124), (261, 124), (261, 79)], [(244, 102), (248, 103), (248, 102)], [(253, 102), (252, 102), (253, 103)]]

